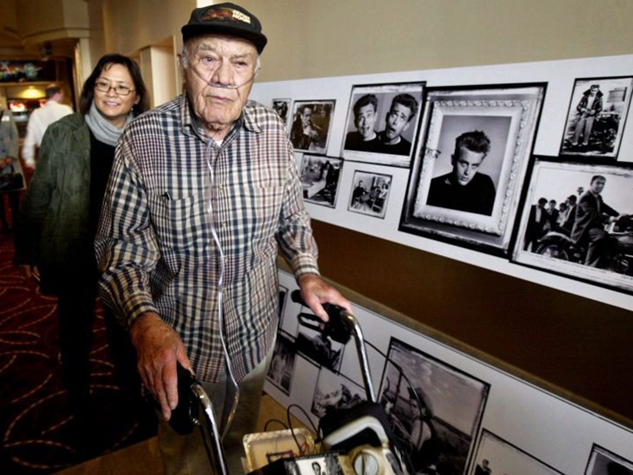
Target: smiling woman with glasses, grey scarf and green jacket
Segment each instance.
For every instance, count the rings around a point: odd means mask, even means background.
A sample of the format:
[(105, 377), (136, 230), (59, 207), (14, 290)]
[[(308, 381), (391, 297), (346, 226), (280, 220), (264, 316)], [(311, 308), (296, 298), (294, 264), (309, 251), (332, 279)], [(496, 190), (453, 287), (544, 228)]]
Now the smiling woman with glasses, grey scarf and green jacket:
[[(63, 376), (78, 421), (89, 412), (97, 288), (92, 243), (116, 141), (125, 125), (147, 110), (147, 102), (134, 61), (120, 54), (103, 56), (85, 81), (80, 113), (47, 128), (22, 207), (16, 261), (27, 275), (37, 268), (42, 293), (58, 297)], [(111, 329), (109, 324), (109, 334)], [(116, 364), (120, 345), (110, 348)]]

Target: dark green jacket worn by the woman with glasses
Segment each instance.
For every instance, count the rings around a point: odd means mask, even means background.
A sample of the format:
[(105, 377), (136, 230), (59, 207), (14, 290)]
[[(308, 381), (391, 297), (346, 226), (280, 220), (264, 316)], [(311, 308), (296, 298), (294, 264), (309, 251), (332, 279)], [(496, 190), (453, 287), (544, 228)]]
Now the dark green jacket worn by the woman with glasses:
[(89, 269), (89, 212), (90, 131), (82, 114), (71, 114), (46, 129), (16, 239), (16, 262), (39, 267), (42, 293)]

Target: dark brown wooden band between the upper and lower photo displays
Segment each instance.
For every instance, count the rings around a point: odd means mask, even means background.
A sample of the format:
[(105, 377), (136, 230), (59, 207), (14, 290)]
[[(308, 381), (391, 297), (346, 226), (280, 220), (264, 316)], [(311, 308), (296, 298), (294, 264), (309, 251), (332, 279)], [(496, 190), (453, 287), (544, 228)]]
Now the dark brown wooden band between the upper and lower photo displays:
[(633, 420), (633, 312), (312, 224), (324, 276)]

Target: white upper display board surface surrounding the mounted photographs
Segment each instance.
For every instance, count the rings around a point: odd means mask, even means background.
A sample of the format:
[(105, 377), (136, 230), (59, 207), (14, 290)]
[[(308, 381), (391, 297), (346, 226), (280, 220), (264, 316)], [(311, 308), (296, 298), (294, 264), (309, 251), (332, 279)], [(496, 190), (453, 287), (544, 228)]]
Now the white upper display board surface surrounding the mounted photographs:
[[(511, 262), (511, 253), (518, 246), (520, 247), (521, 238), (517, 240), (513, 248), (507, 250), (508, 255), (500, 257), (499, 255), (482, 252), (472, 246), (460, 246), (399, 231), (401, 213), (403, 212), (403, 205), (409, 186), (410, 168), (351, 161), (349, 158), (342, 160), (341, 163), (335, 162), (335, 160), (343, 158), (341, 155), (344, 155), (342, 153), (344, 139), (351, 129), (349, 106), (351, 105), (354, 87), (358, 89), (358, 87), (365, 85), (417, 82), (423, 83), (426, 91), (427, 89), (432, 90), (439, 87), (449, 89), (450, 87), (474, 87), (478, 85), (502, 87), (503, 85), (511, 86), (516, 84), (546, 84), (537, 133), (534, 139), (533, 155), (558, 157), (563, 137), (565, 134), (569, 136), (570, 125), (568, 118), (570, 117), (570, 111), (577, 107), (575, 103), (579, 100), (578, 98), (582, 92), (580, 89), (583, 89), (584, 84), (586, 84), (583, 80), (589, 79), (589, 83), (592, 83), (591, 79), (597, 78), (596, 80), (599, 84), (603, 85), (603, 89), (611, 87), (612, 84), (617, 86), (613, 86), (613, 88), (622, 89), (623, 84), (630, 84), (630, 82), (610, 80), (608, 78), (630, 77), (631, 75), (633, 75), (633, 55), (605, 56), (575, 60), (266, 82), (254, 85), (251, 98), (267, 106), (272, 106), (273, 99), (278, 98), (291, 98), (293, 103), (294, 101), (335, 101), (334, 114), (329, 118), (327, 149), (323, 152), (323, 157), (325, 157), (323, 162), (332, 162), (332, 167), (330, 165), (327, 166), (336, 168), (339, 173), (336, 183), (337, 187), (332, 187), (333, 190), (335, 189), (335, 202), (326, 203), (323, 206), (323, 203), (318, 202), (318, 200), (308, 200), (306, 206), (313, 219), (633, 310), (633, 296), (630, 295), (627, 289), (596, 286), (590, 282), (579, 280), (584, 279), (583, 275), (574, 275), (573, 277), (576, 278), (571, 278), (570, 276), (527, 267), (518, 262)], [(606, 94), (606, 99), (616, 100), (613, 99), (615, 92), (617, 92), (615, 89)], [(573, 160), (590, 165), (597, 163), (596, 160), (599, 160), (599, 163), (603, 165), (622, 165), (624, 167), (630, 167), (633, 164), (633, 126), (630, 125), (630, 118), (626, 120), (626, 115), (629, 113), (630, 92), (623, 91), (622, 98), (622, 103), (625, 104), (627, 110), (619, 110), (614, 106), (610, 106), (614, 108), (614, 113), (617, 112), (620, 118), (620, 130), (617, 132), (618, 146), (613, 147), (613, 153), (606, 153), (599, 158), (596, 158), (595, 154), (592, 153), (570, 156), (567, 153), (569, 148), (566, 146), (565, 155), (561, 156), (561, 160)], [(606, 99), (605, 104), (607, 103)], [(384, 107), (383, 105), (381, 111), (384, 111)], [(289, 120), (289, 122), (292, 122), (292, 120)], [(420, 120), (420, 122), (423, 121)], [(414, 144), (415, 153), (420, 153), (420, 144), (424, 135), (424, 130), (420, 129), (417, 134), (417, 144)], [(615, 151), (617, 151), (617, 157), (608, 158), (610, 155), (615, 155)], [(328, 157), (331, 160), (328, 160)], [(295, 158), (297, 166), (300, 168), (303, 163), (303, 153), (296, 153)], [(530, 158), (530, 167), (531, 161), (532, 158)], [(353, 189), (359, 181), (359, 172), (364, 175), (375, 174), (389, 177), (389, 198), (384, 204), (386, 206), (385, 210), (380, 208), (380, 206), (376, 208), (372, 206), (367, 208), (365, 212), (358, 212), (358, 208), (351, 206)], [(525, 170), (521, 173), (523, 172)], [(528, 170), (527, 173), (529, 172)], [(525, 191), (527, 182), (527, 180), (523, 181), (523, 197), (527, 193)], [(588, 185), (586, 184), (585, 189), (587, 189)], [(525, 208), (529, 208), (531, 204), (523, 203), (523, 207), (516, 210), (515, 219), (513, 220), (515, 227), (518, 227)], [(620, 213), (631, 213), (632, 210), (622, 209), (618, 211)], [(504, 246), (506, 244), (505, 242)], [(523, 259), (522, 262), (529, 262), (529, 259)], [(580, 272), (580, 274), (583, 273)]]

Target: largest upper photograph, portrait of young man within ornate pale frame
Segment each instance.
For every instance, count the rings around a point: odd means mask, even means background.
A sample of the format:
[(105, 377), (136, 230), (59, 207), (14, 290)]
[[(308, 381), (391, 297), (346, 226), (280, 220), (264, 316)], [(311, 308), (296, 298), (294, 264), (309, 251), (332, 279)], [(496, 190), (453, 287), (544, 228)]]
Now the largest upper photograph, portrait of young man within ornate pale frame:
[(400, 231), (506, 255), (544, 85), (427, 89)]

